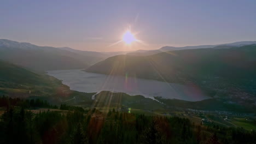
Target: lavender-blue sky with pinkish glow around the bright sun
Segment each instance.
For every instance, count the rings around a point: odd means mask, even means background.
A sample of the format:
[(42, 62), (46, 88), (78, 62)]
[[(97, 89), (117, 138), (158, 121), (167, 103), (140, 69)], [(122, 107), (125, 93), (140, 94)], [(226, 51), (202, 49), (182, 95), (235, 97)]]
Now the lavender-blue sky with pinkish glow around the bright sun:
[[(9, 0), (0, 15), (0, 39), (88, 51), (256, 40), (254, 0)], [(127, 28), (140, 42), (115, 44)]]

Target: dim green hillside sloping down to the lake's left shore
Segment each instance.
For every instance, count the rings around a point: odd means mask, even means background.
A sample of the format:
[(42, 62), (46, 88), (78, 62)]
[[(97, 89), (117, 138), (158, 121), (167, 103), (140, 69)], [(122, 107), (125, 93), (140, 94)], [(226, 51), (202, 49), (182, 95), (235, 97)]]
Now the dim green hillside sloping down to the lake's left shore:
[(91, 100), (92, 94), (71, 91), (54, 77), (37, 74), (9, 62), (0, 61), (0, 95), (21, 98), (44, 98), (53, 103), (83, 97)]

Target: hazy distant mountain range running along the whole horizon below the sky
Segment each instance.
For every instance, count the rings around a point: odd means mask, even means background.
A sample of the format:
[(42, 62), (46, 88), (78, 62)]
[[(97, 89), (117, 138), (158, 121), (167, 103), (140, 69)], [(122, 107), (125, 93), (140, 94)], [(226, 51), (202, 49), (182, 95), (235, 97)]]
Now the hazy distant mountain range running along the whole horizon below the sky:
[(70, 47), (37, 46), (30, 43), (19, 43), (17, 41), (0, 39), (0, 59), (36, 71), (86, 69), (90, 67), (90, 65), (116, 55), (127, 55), (127, 57), (149, 56), (155, 55), (156, 53), (174, 50), (201, 48), (228, 49), (230, 47), (239, 47), (249, 44), (256, 44), (256, 41), (240, 41), (222, 45), (201, 45), (185, 47), (165, 46), (159, 50), (149, 51), (138, 50), (134, 52), (95, 52), (75, 50)]

